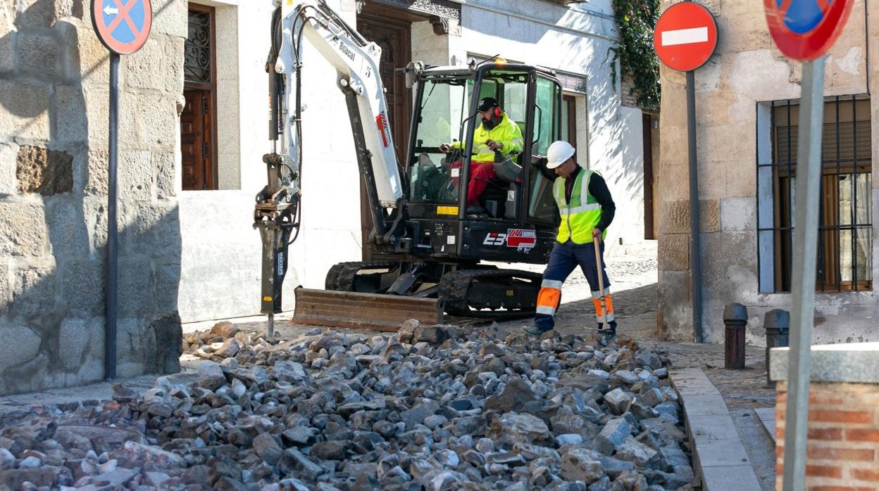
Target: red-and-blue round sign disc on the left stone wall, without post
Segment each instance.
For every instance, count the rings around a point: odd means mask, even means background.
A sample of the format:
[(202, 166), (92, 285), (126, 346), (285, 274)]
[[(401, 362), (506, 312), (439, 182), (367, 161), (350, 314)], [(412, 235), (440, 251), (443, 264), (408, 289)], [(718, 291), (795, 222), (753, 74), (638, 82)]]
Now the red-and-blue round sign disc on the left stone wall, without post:
[(107, 49), (132, 54), (149, 38), (153, 7), (149, 0), (91, 0), (91, 25)]

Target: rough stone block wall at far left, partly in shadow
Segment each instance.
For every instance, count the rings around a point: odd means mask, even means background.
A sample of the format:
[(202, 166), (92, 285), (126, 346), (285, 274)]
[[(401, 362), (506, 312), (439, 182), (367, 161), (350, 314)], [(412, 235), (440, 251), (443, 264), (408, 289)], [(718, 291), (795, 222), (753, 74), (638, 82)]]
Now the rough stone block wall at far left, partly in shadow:
[[(0, 2), (0, 394), (104, 377), (109, 54), (87, 0)], [(120, 64), (117, 374), (179, 369), (186, 4)]]

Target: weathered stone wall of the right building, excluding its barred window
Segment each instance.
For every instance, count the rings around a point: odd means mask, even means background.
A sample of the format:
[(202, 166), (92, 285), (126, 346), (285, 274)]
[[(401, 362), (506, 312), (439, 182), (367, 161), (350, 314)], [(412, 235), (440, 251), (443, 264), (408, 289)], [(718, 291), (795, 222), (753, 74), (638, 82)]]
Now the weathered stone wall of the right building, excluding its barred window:
[[(697, 0), (699, 1), (699, 0)], [(664, 8), (672, 4), (664, 2)], [(759, 292), (757, 253), (757, 107), (800, 97), (801, 64), (772, 44), (763, 4), (753, 0), (699, 1), (716, 18), (716, 53), (697, 69), (695, 112), (702, 275), (702, 333), (709, 343), (723, 341), (723, 307), (748, 307), (747, 341), (765, 345), (763, 315), (790, 309), (790, 292)], [(868, 4), (854, 2), (851, 17), (825, 61), (825, 95), (875, 94), (876, 63), (867, 43), (879, 38), (879, 18)], [(873, 4), (869, 8), (876, 9)], [(868, 73), (871, 72), (871, 73)], [(659, 125), (663, 138), (654, 162), (657, 179), (659, 309), (657, 328), (667, 339), (694, 337), (690, 271), (690, 197), (686, 132), (685, 74), (662, 67)], [(879, 100), (871, 97), (871, 113)], [(875, 116), (874, 116), (875, 119)], [(879, 125), (873, 125), (873, 155), (879, 155)], [(762, 128), (761, 128), (762, 131)], [(765, 138), (762, 137), (761, 138)], [(874, 162), (877, 159), (874, 157)], [(873, 173), (874, 199), (879, 179)], [(766, 205), (765, 205), (766, 206)], [(874, 207), (875, 209), (875, 207)], [(879, 221), (873, 217), (873, 236)], [(876, 244), (874, 243), (874, 250)], [(875, 252), (874, 252), (875, 256)], [(873, 277), (879, 276), (874, 260)], [(816, 343), (875, 340), (879, 301), (875, 292), (817, 293)]]

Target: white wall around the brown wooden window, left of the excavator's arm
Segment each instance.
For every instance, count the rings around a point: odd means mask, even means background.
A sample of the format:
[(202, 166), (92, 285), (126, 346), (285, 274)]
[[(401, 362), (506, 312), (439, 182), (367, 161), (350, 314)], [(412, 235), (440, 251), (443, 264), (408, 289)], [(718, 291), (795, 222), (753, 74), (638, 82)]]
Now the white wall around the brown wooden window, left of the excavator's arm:
[[(265, 74), (271, 2), (204, 4), (217, 9), (217, 129), (224, 189), (179, 191), (178, 180), (183, 321), (259, 313), (261, 242), (252, 227), (253, 205), (265, 186), (262, 156), (271, 149)], [(294, 259), (284, 283), (285, 310), (293, 308), (293, 289), (300, 283), (301, 264), (297, 271), (296, 263)]]

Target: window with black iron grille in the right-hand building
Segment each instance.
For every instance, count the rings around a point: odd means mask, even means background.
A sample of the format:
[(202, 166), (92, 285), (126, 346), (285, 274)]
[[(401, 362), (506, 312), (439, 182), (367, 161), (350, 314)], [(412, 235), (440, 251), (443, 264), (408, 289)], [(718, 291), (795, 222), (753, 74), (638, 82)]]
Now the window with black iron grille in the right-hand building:
[[(758, 105), (757, 235), (760, 292), (790, 292), (794, 256), (797, 101)], [(825, 100), (818, 218), (818, 292), (873, 287), (870, 101)]]

